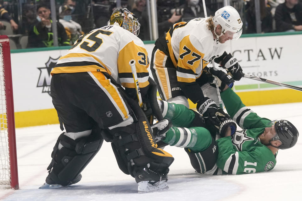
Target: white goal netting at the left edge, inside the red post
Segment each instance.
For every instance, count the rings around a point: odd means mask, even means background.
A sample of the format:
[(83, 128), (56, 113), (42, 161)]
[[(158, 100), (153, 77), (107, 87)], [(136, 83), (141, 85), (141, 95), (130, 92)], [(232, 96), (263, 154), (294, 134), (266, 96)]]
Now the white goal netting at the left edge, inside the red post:
[(3, 47), (0, 42), (0, 185), (10, 185), (10, 166), (8, 153), (8, 131), (6, 118), (6, 99), (4, 84)]

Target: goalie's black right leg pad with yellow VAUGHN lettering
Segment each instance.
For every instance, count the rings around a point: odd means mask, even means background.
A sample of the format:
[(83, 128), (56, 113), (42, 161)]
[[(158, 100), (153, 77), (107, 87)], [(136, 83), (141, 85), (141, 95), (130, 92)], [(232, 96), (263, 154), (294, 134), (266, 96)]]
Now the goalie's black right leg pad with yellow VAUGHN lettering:
[(137, 103), (127, 100), (136, 114), (137, 122), (126, 127), (118, 127), (110, 130), (113, 139), (113, 148), (118, 164), (123, 161), (120, 169), (135, 176), (133, 166), (146, 166), (152, 171), (163, 173), (171, 165), (174, 158), (171, 154), (157, 148), (152, 129), (147, 117)]

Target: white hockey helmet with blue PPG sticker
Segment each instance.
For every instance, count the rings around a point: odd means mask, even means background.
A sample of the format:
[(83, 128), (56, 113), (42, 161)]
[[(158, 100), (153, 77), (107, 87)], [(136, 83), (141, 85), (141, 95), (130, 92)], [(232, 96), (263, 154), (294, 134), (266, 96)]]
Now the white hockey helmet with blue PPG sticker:
[[(218, 9), (213, 17), (214, 33), (218, 24), (222, 27), (221, 35), (233, 36), (232, 40), (237, 40), (242, 34), (242, 20), (238, 11), (232, 6), (225, 6)], [(217, 35), (217, 37), (221, 36)]]

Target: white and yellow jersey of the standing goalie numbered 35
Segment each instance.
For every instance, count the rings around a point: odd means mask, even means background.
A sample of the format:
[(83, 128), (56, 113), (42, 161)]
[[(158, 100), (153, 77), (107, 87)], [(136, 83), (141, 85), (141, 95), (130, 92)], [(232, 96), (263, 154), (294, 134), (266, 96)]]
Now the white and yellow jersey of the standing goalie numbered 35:
[(107, 72), (123, 87), (135, 88), (131, 59), (136, 61), (139, 86), (148, 86), (149, 60), (143, 41), (120, 26), (108, 25), (79, 37), (51, 73)]

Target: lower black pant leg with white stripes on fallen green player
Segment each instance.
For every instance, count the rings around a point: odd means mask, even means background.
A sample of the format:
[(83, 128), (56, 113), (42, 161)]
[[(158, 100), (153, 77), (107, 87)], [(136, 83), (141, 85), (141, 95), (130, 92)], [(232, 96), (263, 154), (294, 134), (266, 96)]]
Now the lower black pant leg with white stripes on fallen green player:
[(191, 149), (185, 148), (189, 155), (191, 165), (200, 174), (217, 175), (219, 168), (216, 165), (218, 157), (218, 146), (212, 138), (210, 146), (200, 152), (193, 152)]

